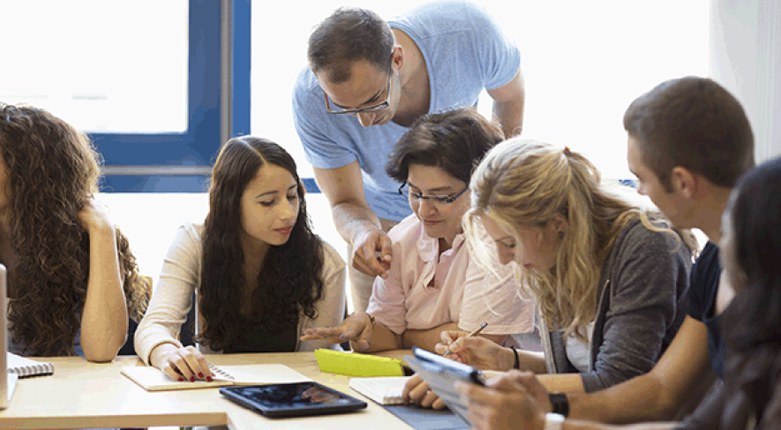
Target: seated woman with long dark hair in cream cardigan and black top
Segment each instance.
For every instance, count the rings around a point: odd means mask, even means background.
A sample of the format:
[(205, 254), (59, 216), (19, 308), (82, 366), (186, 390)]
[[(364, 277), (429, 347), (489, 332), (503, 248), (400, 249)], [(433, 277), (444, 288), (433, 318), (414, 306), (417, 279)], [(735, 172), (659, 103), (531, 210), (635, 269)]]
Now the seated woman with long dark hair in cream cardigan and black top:
[[(207, 353), (312, 351), (303, 330), (344, 316), (344, 261), (310, 227), (293, 158), (252, 136), (230, 139), (214, 164), (203, 225), (176, 233), (149, 311), (139, 357), (173, 379), (211, 379)], [(182, 325), (195, 307), (195, 341)]]

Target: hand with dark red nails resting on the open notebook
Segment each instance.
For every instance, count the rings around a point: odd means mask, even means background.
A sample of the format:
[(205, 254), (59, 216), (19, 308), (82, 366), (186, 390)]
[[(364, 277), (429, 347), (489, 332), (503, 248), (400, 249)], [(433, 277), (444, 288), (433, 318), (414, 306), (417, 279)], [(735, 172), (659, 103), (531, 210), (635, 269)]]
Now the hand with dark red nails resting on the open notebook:
[(214, 377), (206, 357), (193, 346), (177, 348), (170, 343), (160, 344), (152, 350), (150, 362), (174, 381), (211, 382)]

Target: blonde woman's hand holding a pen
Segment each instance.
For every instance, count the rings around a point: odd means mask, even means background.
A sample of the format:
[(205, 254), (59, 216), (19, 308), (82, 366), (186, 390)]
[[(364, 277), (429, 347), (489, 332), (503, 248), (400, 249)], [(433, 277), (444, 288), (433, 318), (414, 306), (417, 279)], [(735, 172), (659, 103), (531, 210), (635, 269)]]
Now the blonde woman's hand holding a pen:
[(463, 331), (447, 330), (440, 333), (437, 354), (450, 351), (448, 358), (478, 369), (509, 370), (514, 363), (513, 351), (480, 336), (469, 336)]

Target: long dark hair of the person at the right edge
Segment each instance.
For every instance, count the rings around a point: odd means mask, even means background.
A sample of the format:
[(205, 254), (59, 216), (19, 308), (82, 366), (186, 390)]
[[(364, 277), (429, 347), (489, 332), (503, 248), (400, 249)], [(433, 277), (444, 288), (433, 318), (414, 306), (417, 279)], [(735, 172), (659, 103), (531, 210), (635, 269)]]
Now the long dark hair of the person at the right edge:
[(727, 345), (725, 392), (745, 396), (757, 428), (778, 428), (768, 421), (778, 420), (781, 409), (781, 158), (740, 179), (727, 214), (731, 240), (721, 252), (736, 295), (719, 323)]

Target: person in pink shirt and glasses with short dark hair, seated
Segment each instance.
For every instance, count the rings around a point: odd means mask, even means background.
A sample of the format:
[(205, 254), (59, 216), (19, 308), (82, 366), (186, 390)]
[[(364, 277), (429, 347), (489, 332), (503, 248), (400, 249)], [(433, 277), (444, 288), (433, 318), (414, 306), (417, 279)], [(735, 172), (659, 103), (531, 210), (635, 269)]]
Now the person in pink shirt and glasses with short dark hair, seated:
[(308, 330), (302, 339), (349, 340), (357, 351), (433, 350), (442, 330), (471, 331), (483, 322), (482, 336), (498, 343), (532, 332), (534, 305), (513, 271), (498, 261), (478, 265), (461, 228), (472, 169), (503, 138), (472, 108), (413, 124), (386, 167), (403, 182), (399, 192), (413, 211), (389, 232), (394, 258), (388, 277), (375, 279), (366, 312), (336, 327)]

